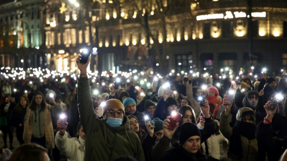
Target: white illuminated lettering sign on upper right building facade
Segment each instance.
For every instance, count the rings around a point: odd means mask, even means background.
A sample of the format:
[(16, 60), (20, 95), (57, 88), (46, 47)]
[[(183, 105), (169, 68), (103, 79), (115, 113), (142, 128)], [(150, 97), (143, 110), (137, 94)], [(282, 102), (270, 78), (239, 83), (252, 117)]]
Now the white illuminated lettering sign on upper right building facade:
[[(266, 17), (266, 12), (252, 12), (251, 13), (252, 17)], [(196, 16), (196, 20), (200, 21), (200, 20), (209, 20), (209, 19), (231, 19), (231, 18), (245, 18), (245, 17), (249, 17), (249, 15), (247, 16), (245, 12), (234, 12), (232, 14), (231, 11), (226, 11), (225, 14), (223, 13), (219, 13), (219, 14), (204, 14), (204, 15), (198, 15)]]

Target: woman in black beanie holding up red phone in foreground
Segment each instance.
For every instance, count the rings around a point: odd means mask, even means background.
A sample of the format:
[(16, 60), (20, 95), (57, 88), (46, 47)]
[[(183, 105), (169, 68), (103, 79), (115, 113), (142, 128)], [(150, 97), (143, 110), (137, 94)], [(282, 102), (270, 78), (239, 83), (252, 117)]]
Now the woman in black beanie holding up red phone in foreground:
[[(169, 124), (170, 120), (167, 117), (163, 122), (164, 135), (150, 152), (152, 160), (211, 160), (200, 151), (201, 133), (194, 123), (186, 122), (180, 126), (177, 123), (173, 130), (168, 128)], [(181, 146), (168, 150), (170, 140), (176, 131)]]

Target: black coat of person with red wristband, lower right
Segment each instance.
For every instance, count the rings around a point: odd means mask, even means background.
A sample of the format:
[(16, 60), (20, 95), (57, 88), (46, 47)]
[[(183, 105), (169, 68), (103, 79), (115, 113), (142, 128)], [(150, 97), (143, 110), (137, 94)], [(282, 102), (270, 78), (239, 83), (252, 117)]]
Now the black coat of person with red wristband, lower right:
[(280, 139), (272, 134), (272, 124), (264, 124), (261, 121), (257, 125), (255, 136), (258, 144), (267, 153), (268, 161), (277, 161), (287, 148), (287, 137)]

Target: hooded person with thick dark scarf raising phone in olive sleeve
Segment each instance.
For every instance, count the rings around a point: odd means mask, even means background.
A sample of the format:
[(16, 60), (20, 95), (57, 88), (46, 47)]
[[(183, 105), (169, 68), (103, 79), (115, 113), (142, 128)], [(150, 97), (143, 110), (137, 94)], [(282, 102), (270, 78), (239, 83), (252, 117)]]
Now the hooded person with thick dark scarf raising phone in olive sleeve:
[[(231, 102), (231, 104), (230, 104)], [(229, 141), (228, 159), (237, 160), (261, 160), (259, 157), (262, 147), (258, 146), (255, 138), (255, 112), (252, 108), (240, 108), (236, 115), (234, 127), (229, 124), (229, 113), (233, 101), (229, 101), (224, 95), (223, 107), (225, 111), (220, 115), (219, 130)]]

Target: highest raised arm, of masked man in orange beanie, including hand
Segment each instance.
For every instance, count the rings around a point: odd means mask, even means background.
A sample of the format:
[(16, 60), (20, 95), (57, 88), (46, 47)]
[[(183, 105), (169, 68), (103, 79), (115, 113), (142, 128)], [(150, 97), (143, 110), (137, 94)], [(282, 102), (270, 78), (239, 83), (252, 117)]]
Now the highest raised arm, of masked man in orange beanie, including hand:
[(80, 78), (78, 80), (78, 106), (81, 123), (86, 135), (91, 135), (93, 132), (98, 131), (99, 120), (96, 118), (93, 108), (93, 102), (91, 99), (89, 78), (87, 76), (87, 67), (90, 62), (85, 64), (80, 63), (81, 55), (76, 60), (77, 66), (80, 70)]

